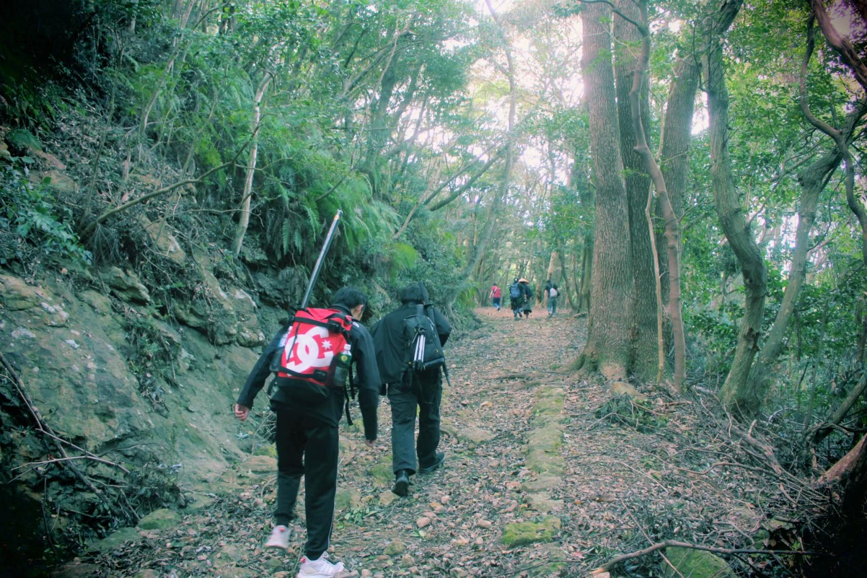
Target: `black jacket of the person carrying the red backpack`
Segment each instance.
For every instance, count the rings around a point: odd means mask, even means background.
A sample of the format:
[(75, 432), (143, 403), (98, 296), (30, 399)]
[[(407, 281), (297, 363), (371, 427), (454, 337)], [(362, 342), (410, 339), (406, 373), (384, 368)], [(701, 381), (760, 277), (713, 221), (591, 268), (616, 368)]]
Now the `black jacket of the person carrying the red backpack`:
[[(335, 305), (343, 313), (349, 315), (349, 309), (342, 305)], [(253, 399), (256, 399), (256, 394), (264, 386), (265, 380), (271, 375), (271, 357), (280, 346), (280, 338), (287, 331), (287, 327), (280, 328), (268, 347), (264, 348), (262, 355), (253, 366), (250, 375), (247, 377), (247, 382), (241, 389), (238, 395), (238, 404), (241, 406), (252, 407)], [(376, 439), (376, 406), (379, 406), (379, 389), (380, 389), (380, 374), (376, 367), (376, 357), (374, 353), (374, 342), (370, 337), (367, 328), (358, 321), (352, 321), (352, 329), (349, 331), (349, 344), (352, 346), (352, 364), (355, 371), (354, 383), (358, 386), (358, 405), (362, 408), (362, 419), (364, 420), (364, 437), (367, 439)], [(286, 399), (284, 387), (279, 386), (281, 381), (286, 378), (274, 378), (273, 393), (271, 395), (271, 407), (275, 410), (284, 409), (289, 411), (297, 411), (308, 415), (315, 416), (317, 419), (331, 424), (337, 425), (343, 414), (343, 392), (340, 388), (333, 388), (330, 392), (329, 399), (323, 403), (313, 406), (299, 406), (290, 404)], [(286, 385), (284, 383), (284, 385)]]

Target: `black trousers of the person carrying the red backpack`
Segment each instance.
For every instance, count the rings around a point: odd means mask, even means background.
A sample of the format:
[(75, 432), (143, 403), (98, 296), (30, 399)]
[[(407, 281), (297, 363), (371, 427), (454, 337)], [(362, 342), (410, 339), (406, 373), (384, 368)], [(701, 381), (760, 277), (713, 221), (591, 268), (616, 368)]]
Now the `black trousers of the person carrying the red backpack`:
[(304, 553), (317, 560), (328, 549), (337, 490), (336, 425), (298, 412), (277, 410), (277, 524), (295, 519), (298, 487), (304, 477), (307, 545)]

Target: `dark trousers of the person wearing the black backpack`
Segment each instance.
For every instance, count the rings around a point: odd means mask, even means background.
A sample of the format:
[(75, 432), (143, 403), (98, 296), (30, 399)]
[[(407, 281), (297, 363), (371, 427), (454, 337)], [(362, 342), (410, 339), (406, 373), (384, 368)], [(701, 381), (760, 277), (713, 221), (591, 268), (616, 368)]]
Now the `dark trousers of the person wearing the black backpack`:
[[(440, 402), (442, 379), (440, 370), (413, 373), (399, 384), (388, 386), (391, 405), (392, 471), (408, 470), (414, 474), (415, 458), (424, 468), (436, 461), (440, 445)], [(415, 408), (419, 408), (419, 438), (415, 440)]]

